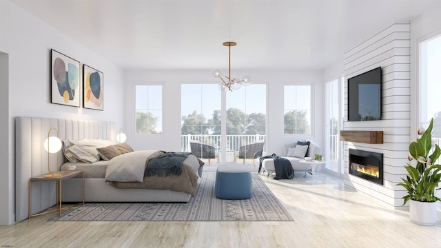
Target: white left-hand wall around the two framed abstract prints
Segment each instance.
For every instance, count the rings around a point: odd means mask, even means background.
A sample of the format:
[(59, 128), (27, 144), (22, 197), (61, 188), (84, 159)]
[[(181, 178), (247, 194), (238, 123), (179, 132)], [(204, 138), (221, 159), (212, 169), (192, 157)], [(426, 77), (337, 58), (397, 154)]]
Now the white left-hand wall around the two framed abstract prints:
[[(9, 114), (1, 108), (9, 127), (0, 129), (1, 136), (6, 132), (10, 139), (10, 161), (0, 165), (0, 174), (8, 175), (8, 180), (0, 180), (0, 225), (7, 225), (14, 222), (14, 117), (81, 118), (114, 121), (119, 126), (123, 123), (124, 87), (121, 68), (10, 1), (0, 1), (0, 37), (0, 52), (9, 58)], [(103, 72), (104, 111), (50, 103), (51, 48), (80, 61), (81, 68), (85, 63)]]

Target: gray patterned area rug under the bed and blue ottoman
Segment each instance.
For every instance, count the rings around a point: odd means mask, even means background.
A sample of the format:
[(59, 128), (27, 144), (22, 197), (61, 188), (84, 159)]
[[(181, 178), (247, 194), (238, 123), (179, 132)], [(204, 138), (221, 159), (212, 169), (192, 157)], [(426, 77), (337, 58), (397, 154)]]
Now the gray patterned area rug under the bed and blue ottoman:
[(205, 172), (188, 203), (87, 203), (50, 220), (293, 220), (258, 174), (252, 173), (254, 192), (247, 200), (216, 198), (215, 177)]

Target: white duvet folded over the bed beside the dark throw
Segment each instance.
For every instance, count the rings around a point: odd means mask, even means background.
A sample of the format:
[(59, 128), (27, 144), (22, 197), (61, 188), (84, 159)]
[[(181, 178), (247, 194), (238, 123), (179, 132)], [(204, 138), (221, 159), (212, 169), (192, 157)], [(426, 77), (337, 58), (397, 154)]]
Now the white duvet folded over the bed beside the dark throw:
[(145, 161), (158, 150), (129, 152), (112, 158), (105, 171), (105, 180), (143, 183)]

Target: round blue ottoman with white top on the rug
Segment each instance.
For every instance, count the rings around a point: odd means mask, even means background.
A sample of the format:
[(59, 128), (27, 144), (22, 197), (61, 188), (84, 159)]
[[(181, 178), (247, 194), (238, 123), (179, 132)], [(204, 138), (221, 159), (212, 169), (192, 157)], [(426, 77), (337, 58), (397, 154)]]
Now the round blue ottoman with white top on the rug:
[(253, 194), (251, 172), (243, 164), (220, 164), (214, 190), (220, 199), (249, 199)]

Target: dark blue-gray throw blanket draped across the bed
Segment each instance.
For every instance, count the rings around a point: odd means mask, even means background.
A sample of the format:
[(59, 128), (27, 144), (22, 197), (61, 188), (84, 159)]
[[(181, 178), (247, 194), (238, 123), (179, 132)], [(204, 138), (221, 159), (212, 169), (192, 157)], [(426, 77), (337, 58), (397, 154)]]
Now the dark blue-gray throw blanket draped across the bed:
[(181, 176), (182, 163), (189, 152), (165, 152), (164, 154), (150, 159), (145, 165), (145, 176)]

